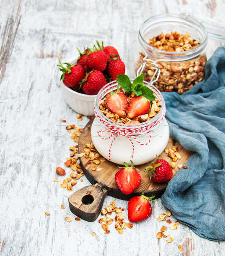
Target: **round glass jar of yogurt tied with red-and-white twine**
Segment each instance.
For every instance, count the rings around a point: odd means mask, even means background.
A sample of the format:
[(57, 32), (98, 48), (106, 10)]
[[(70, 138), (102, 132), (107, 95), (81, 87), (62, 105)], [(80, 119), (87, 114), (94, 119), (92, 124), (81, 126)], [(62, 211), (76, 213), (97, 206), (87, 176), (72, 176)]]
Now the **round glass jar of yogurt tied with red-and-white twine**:
[(162, 107), (156, 116), (138, 124), (115, 122), (101, 112), (101, 99), (116, 90), (116, 81), (106, 84), (96, 96), (95, 119), (91, 128), (92, 143), (103, 157), (113, 163), (123, 165), (124, 162), (130, 163), (130, 160), (135, 165), (147, 163), (162, 153), (169, 140), (170, 131), (164, 117), (166, 107), (163, 96), (155, 86), (146, 81), (144, 84), (153, 90)]

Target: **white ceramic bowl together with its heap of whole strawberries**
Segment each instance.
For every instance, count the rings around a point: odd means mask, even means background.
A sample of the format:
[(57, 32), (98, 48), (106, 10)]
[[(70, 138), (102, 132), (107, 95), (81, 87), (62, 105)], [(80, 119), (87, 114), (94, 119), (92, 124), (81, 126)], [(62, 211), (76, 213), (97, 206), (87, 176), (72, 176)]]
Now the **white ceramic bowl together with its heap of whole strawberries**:
[(63, 94), (67, 104), (77, 113), (94, 115), (95, 97), (104, 85), (125, 73), (125, 64), (113, 46), (100, 45), (79, 51), (69, 62), (59, 60)]

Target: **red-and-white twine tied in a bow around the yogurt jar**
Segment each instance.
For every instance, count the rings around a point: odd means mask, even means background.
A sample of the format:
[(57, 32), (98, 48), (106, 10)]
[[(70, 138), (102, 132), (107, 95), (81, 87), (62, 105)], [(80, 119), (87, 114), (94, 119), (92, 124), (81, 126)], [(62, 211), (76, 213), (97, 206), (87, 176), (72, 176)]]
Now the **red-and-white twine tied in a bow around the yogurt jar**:
[[(95, 110), (95, 108), (94, 108)], [(113, 137), (113, 135), (115, 135), (115, 137), (113, 138), (112, 142), (110, 143), (110, 148), (109, 148), (109, 160), (111, 160), (111, 148), (112, 145), (115, 141), (115, 139), (118, 137), (118, 135), (123, 135), (125, 137), (127, 137), (130, 140), (130, 143), (132, 145), (132, 154), (131, 154), (131, 158), (133, 158), (133, 154), (134, 154), (134, 143), (132, 141), (136, 140), (137, 143), (139, 143), (140, 145), (147, 145), (148, 143), (150, 143), (151, 140), (151, 134), (150, 134), (150, 130), (152, 130), (153, 128), (156, 128), (156, 126), (158, 126), (162, 120), (164, 119), (166, 114), (166, 110), (162, 116), (161, 119), (157, 120), (156, 122), (151, 123), (150, 125), (144, 126), (144, 127), (140, 127), (140, 128), (132, 128), (132, 127), (118, 127), (115, 125), (111, 125), (109, 124), (107, 121), (105, 121), (104, 119), (101, 118), (101, 116), (99, 116), (99, 114), (97, 113), (97, 111), (95, 110), (95, 116), (98, 118), (98, 121), (100, 123), (102, 123), (102, 125), (106, 128), (108, 128), (109, 130), (99, 130), (98, 132), (98, 136), (101, 137), (103, 140), (109, 140)], [(108, 134), (110, 134), (109, 137), (104, 137), (101, 135), (101, 133), (107, 132)], [(149, 134), (149, 140), (147, 141), (147, 143), (141, 143), (136, 137), (135, 135), (137, 134), (144, 134), (147, 133)]]

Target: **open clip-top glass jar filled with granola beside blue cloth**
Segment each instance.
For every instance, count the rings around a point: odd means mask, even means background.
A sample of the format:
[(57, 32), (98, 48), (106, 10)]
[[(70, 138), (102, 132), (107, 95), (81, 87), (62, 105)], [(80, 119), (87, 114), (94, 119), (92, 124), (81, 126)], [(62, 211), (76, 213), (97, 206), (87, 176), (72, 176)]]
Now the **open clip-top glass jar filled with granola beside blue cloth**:
[[(180, 51), (186, 44), (188, 46), (188, 40), (185, 39), (184, 45), (182, 37), (176, 38), (175, 35), (173, 37), (170, 34), (175, 31), (184, 35), (189, 33), (194, 42), (198, 41), (200, 44), (189, 50)], [(169, 37), (169, 35), (172, 37)], [(167, 50), (164, 50), (165, 47), (162, 47), (162, 44), (166, 36), (170, 41), (169, 44), (183, 44), (182, 48), (177, 47), (176, 51), (168, 51), (172, 47), (167, 47)], [(148, 43), (154, 37), (157, 37), (155, 40), (159, 41), (159, 45), (161, 45), (159, 48), (161, 49)], [(180, 42), (177, 42), (179, 40)], [(136, 69), (138, 70), (138, 67), (141, 66), (145, 55), (154, 61), (157, 60), (161, 73), (159, 80), (154, 85), (161, 91), (177, 91), (182, 94), (204, 79), (207, 40), (207, 32), (204, 26), (193, 17), (178, 14), (163, 14), (150, 17), (141, 25), (139, 30), (138, 41), (141, 51)], [(147, 64), (148, 66), (144, 68), (144, 79), (150, 81), (154, 69), (150, 62), (147, 61)]]

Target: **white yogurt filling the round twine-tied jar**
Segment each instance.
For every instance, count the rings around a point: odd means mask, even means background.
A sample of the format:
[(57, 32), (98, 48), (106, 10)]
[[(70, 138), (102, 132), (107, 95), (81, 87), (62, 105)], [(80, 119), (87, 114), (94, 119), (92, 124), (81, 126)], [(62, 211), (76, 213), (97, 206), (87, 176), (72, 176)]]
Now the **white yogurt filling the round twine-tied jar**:
[[(95, 118), (91, 128), (92, 142), (98, 152), (106, 159), (109, 159), (110, 144), (114, 136), (109, 140), (104, 140), (98, 136), (98, 131), (101, 130), (106, 129), (100, 124), (100, 122), (98, 122), (98, 119)], [(131, 158), (133, 147), (130, 140), (125, 136), (118, 135), (111, 147), (110, 161), (123, 165), (124, 162), (130, 164), (130, 160), (132, 160), (134, 165), (139, 165), (153, 160), (156, 155), (158, 156), (162, 153), (168, 143), (170, 131), (167, 120), (164, 118), (158, 127), (156, 127), (153, 131), (150, 131), (150, 134), (151, 140), (147, 145), (140, 145), (140, 143), (137, 143), (136, 140), (131, 138), (135, 148), (133, 158)], [(109, 137), (110, 134), (104, 132), (101, 133), (101, 136)], [(149, 141), (149, 134), (141, 134), (136, 136), (136, 138), (141, 143), (147, 143)]]

